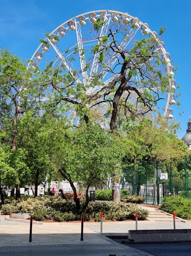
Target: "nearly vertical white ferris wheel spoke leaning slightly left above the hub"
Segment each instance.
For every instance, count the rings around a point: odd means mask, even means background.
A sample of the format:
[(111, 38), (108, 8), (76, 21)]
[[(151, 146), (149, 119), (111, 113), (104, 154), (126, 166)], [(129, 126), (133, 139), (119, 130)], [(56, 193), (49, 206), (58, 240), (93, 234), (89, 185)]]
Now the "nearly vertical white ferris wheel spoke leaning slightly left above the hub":
[(87, 71), (85, 70), (86, 68), (86, 59), (84, 55), (84, 46), (83, 46), (83, 40), (82, 40), (82, 33), (81, 33), (81, 28), (78, 22), (76, 22), (76, 37), (78, 41), (78, 52), (79, 52), (79, 60), (80, 60), (80, 65), (81, 65), (81, 72), (82, 72), (82, 78), (83, 78), (83, 83), (86, 85), (87, 83)]

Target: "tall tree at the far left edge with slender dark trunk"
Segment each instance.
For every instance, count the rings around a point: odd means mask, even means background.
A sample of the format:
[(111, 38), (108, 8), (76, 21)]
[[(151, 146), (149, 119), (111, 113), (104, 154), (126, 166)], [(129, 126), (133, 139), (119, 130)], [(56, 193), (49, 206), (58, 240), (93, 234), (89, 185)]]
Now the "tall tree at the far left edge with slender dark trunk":
[[(10, 146), (12, 167), (18, 170), (16, 199), (20, 198), (19, 184), (23, 176), (24, 152), (19, 150), (18, 124), (29, 106), (28, 88), (31, 74), (21, 60), (5, 49), (0, 50), (0, 132), (1, 140)], [(18, 160), (19, 159), (19, 160)], [(21, 166), (22, 165), (22, 166)]]

